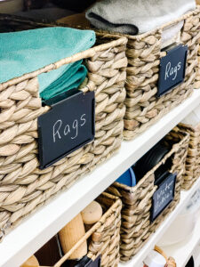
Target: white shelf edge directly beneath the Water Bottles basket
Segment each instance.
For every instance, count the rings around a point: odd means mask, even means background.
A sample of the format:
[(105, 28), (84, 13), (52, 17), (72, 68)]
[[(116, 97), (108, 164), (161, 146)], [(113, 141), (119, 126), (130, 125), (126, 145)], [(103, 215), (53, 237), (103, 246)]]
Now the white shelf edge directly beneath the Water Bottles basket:
[[(166, 231), (167, 228), (171, 225), (171, 223), (173, 222), (173, 220), (176, 218), (177, 214), (180, 213), (181, 209), (185, 205), (187, 205), (188, 199), (191, 198), (191, 196), (194, 194), (194, 192), (196, 191), (196, 189), (199, 186), (200, 186), (200, 179), (197, 180), (197, 182), (193, 185), (193, 187), (190, 190), (188, 190), (188, 191), (181, 191), (180, 203), (179, 203), (178, 206), (176, 206), (176, 208), (174, 209), (174, 211), (172, 211), (172, 214), (169, 214), (169, 216), (165, 219), (164, 223), (162, 223), (160, 225), (160, 227), (156, 230), (156, 232), (151, 236), (151, 238), (148, 239), (147, 244), (140, 249), (140, 252), (137, 255), (135, 255), (130, 262), (128, 262), (128, 263), (120, 263), (119, 264), (119, 267), (138, 267), (138, 266), (141, 266), (140, 263), (142, 263), (142, 261), (144, 260), (144, 258), (148, 255), (149, 251), (151, 249), (154, 249), (154, 247), (156, 245), (156, 242), (160, 238), (162, 238), (162, 236), (164, 234), (164, 231)], [(199, 224), (198, 224), (198, 226), (200, 227)], [(199, 228), (198, 228), (198, 238), (200, 239), (200, 231), (199, 231)], [(168, 253), (168, 251), (165, 250), (165, 249), (164, 249), (164, 252), (167, 255), (169, 255), (169, 256), (172, 255), (171, 252)], [(182, 255), (182, 257), (184, 257), (184, 255)], [(187, 259), (186, 259), (186, 263), (187, 263)], [(184, 265), (181, 265), (179, 263), (177, 264), (177, 267), (183, 267), (183, 266)]]

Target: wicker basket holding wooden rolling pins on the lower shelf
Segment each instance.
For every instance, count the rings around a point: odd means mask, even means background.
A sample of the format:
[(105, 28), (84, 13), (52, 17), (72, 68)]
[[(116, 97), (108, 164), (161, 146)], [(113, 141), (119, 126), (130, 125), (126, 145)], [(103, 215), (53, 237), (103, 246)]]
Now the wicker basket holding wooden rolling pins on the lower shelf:
[(105, 214), (54, 267), (60, 267), (85, 240), (89, 244), (87, 255), (93, 261), (101, 255), (100, 266), (118, 266), (122, 201), (108, 193), (102, 193), (96, 201), (106, 210)]

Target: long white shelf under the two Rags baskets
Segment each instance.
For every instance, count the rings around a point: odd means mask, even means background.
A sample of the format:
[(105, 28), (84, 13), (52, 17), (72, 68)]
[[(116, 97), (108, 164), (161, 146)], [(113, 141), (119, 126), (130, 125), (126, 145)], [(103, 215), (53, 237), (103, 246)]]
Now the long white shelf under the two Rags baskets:
[(35, 214), (28, 216), (28, 219), (11, 231), (0, 244), (0, 266), (18, 267), (33, 255), (199, 103), (200, 90), (196, 90), (187, 101), (172, 109), (144, 134), (140, 134), (132, 142), (123, 142), (115, 157), (98, 166), (92, 174), (78, 180), (69, 190), (62, 192)]

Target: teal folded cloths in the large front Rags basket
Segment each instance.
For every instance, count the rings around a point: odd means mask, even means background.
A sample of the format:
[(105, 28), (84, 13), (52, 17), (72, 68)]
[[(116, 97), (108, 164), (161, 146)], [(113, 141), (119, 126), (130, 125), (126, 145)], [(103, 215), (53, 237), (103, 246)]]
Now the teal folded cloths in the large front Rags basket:
[[(92, 47), (95, 33), (75, 28), (37, 28), (0, 34), (0, 83), (41, 69)], [(86, 76), (81, 61), (39, 75), (44, 99), (80, 85)], [(47, 92), (49, 90), (49, 92)]]

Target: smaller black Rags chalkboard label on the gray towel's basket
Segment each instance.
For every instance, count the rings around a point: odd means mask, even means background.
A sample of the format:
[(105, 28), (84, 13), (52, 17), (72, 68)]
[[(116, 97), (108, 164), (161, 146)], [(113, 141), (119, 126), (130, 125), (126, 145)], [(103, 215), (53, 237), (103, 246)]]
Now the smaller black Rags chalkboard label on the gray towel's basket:
[(158, 97), (180, 85), (185, 78), (188, 46), (179, 44), (166, 52), (167, 55), (160, 61)]

